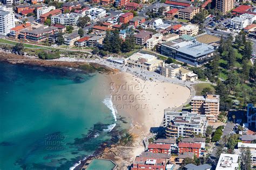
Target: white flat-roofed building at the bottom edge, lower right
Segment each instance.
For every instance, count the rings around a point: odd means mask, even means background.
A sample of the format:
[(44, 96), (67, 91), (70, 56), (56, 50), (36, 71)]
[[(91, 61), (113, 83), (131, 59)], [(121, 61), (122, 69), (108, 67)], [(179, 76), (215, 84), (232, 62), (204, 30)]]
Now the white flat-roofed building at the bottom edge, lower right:
[(237, 170), (239, 169), (239, 155), (221, 153), (216, 170)]

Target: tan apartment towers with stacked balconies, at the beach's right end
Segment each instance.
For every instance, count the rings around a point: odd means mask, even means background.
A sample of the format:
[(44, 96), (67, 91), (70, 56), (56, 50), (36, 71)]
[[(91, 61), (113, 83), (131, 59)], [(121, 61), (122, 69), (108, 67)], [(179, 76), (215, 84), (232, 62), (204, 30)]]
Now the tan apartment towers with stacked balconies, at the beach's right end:
[(216, 122), (219, 116), (219, 101), (219, 95), (193, 96), (191, 111), (200, 115), (206, 115), (208, 122)]

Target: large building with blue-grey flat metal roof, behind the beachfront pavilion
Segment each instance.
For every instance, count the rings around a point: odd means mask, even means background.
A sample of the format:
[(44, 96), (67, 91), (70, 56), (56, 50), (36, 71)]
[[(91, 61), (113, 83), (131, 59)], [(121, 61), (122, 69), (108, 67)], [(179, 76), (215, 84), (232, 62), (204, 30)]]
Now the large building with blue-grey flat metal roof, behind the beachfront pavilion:
[(168, 41), (161, 45), (161, 54), (186, 62), (193, 66), (199, 66), (212, 60), (215, 48), (196, 40), (176, 42)]

